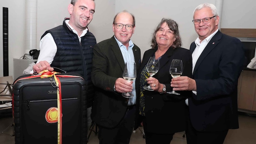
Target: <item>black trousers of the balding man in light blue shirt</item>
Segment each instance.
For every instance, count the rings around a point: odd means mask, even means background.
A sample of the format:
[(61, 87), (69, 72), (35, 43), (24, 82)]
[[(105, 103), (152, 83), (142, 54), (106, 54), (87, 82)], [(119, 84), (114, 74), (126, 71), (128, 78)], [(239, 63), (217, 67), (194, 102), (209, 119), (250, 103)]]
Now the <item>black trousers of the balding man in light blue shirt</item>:
[(99, 144), (129, 144), (134, 128), (136, 107), (132, 106), (124, 114), (124, 118), (113, 128), (98, 126)]

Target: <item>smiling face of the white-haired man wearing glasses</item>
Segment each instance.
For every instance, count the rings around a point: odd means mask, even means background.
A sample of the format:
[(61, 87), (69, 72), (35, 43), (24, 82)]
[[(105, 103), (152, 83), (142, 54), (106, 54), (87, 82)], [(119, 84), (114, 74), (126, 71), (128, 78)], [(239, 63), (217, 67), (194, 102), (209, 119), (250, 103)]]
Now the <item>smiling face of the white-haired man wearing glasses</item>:
[[(202, 8), (200, 10), (195, 11), (194, 13), (194, 19), (204, 19), (207, 17), (213, 17), (213, 13), (210, 8)], [(219, 24), (219, 16), (213, 17), (210, 19), (210, 23), (203, 23), (203, 21), (200, 21), (199, 25), (195, 25), (195, 32), (198, 34), (199, 39), (202, 41), (213, 32), (215, 32), (218, 29), (218, 24)]]

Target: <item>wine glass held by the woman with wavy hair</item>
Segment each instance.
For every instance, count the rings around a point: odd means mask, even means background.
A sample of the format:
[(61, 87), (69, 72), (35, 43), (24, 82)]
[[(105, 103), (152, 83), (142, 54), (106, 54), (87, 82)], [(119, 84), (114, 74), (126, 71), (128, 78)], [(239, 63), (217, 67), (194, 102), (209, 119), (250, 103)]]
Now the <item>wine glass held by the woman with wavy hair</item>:
[[(150, 57), (147, 64), (147, 71), (150, 74), (150, 77), (154, 76), (158, 72), (158, 70), (159, 70), (159, 59), (155, 59), (155, 57)], [(146, 89), (148, 91), (154, 91), (154, 89), (152, 89), (150, 85), (148, 86), (145, 85), (143, 89)]]

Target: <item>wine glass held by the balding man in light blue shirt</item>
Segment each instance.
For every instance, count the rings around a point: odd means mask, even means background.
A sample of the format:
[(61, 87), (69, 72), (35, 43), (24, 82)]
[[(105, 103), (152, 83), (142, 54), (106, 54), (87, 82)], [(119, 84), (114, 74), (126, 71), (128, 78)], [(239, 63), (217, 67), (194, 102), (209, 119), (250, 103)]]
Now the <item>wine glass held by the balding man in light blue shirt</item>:
[[(136, 63), (127, 61), (125, 63), (124, 72), (123, 72), (123, 78), (131, 82), (132, 80), (135, 80), (136, 78)], [(131, 92), (122, 93), (123, 97), (130, 98), (133, 97), (133, 94)]]

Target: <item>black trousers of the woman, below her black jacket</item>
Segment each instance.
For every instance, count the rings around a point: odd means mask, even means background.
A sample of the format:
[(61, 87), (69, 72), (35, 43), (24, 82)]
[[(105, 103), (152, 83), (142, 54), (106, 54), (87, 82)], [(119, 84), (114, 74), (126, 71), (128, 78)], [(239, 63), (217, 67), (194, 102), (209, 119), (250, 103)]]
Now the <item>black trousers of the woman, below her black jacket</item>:
[[(146, 116), (143, 116), (143, 129), (145, 133), (146, 144), (170, 144), (171, 140), (173, 139), (174, 133), (163, 134), (161, 133), (161, 131), (160, 133), (159, 131), (149, 132), (148, 127), (150, 127), (150, 125), (147, 125), (146, 123)], [(159, 125), (159, 127), (161, 126)]]

